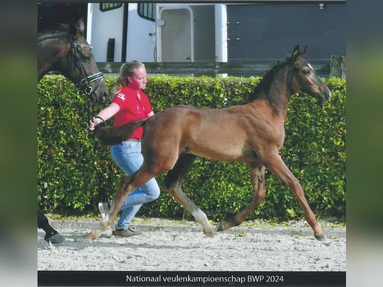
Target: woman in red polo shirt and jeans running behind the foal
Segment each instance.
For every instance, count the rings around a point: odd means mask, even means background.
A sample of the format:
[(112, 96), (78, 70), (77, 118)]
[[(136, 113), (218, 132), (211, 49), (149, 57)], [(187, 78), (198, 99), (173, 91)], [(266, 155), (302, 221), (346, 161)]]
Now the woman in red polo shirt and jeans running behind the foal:
[[(133, 60), (122, 64), (119, 77), (113, 88), (111, 103), (89, 121), (88, 128), (113, 116), (113, 126), (125, 124), (136, 118), (147, 118), (154, 114), (149, 99), (142, 92), (146, 87), (146, 69), (143, 63)], [(110, 153), (114, 162), (127, 174), (135, 172), (142, 164), (141, 142), (143, 129), (136, 129), (130, 138), (120, 144), (112, 145)], [(126, 196), (120, 210), (122, 214), (115, 225), (113, 235), (135, 236), (140, 232), (129, 228), (130, 221), (142, 203), (152, 201), (159, 196), (159, 187), (155, 178)], [(99, 202), (98, 208), (102, 218), (108, 212), (112, 202)]]

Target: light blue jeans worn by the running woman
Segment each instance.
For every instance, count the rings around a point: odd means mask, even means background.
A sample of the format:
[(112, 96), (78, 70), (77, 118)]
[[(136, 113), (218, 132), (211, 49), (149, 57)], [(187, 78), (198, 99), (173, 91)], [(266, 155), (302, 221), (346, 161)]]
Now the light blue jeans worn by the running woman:
[[(121, 144), (112, 145), (110, 146), (110, 154), (114, 162), (127, 175), (134, 173), (143, 162), (140, 141), (125, 140)], [(133, 219), (142, 203), (153, 201), (158, 196), (159, 186), (154, 177), (132, 191), (122, 202), (120, 208), (122, 214), (117, 221), (117, 227), (124, 229), (129, 227), (131, 219)]]

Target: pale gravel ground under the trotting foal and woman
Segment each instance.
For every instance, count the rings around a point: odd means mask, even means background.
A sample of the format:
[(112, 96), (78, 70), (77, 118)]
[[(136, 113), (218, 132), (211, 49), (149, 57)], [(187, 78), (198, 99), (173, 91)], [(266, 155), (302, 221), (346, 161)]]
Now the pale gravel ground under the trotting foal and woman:
[(305, 221), (244, 224), (202, 233), (196, 222), (135, 218), (134, 237), (106, 231), (93, 243), (88, 233), (98, 220), (50, 220), (65, 237), (46, 242), (37, 229), (37, 270), (150, 271), (345, 271), (346, 228), (319, 222), (326, 240), (314, 239)]

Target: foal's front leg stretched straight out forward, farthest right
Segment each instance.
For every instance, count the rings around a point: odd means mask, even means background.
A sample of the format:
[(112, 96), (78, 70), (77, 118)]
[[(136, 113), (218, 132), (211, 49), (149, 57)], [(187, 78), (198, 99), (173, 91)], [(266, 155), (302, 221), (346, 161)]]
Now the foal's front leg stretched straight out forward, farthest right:
[(299, 205), (303, 210), (304, 218), (314, 231), (315, 238), (323, 240), (324, 236), (322, 228), (320, 228), (314, 213), (308, 205), (302, 186), (300, 185), (298, 179), (288, 169), (286, 164), (284, 164), (283, 160), (280, 158), (280, 155), (276, 153), (274, 156), (270, 156), (266, 166), (273, 174), (275, 174), (276, 177), (286, 184), (288, 189), (292, 192), (292, 194), (294, 194), (296, 199), (298, 199)]

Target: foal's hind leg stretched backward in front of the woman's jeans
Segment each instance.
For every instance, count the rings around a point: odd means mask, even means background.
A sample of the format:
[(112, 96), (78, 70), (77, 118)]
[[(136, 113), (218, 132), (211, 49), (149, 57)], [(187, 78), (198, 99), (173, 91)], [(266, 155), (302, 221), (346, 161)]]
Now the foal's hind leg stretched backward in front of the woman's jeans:
[(109, 213), (105, 214), (105, 217), (101, 220), (98, 227), (91, 230), (89, 233), (90, 242), (93, 242), (103, 232), (105, 232), (111, 224), (113, 224), (125, 197), (152, 177), (152, 173), (145, 171), (144, 165), (142, 165), (136, 172), (131, 175), (125, 175), (121, 179), (113, 204), (110, 206)]

